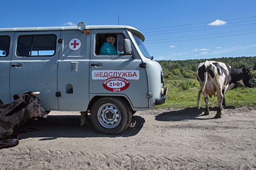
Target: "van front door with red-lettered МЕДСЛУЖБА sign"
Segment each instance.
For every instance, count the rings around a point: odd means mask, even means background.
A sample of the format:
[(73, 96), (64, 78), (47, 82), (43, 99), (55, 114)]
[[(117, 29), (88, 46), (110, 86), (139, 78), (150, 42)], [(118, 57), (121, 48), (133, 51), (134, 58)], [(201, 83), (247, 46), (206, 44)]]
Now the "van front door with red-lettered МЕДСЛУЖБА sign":
[[(116, 53), (107, 54), (105, 52), (111, 50), (101, 49), (109, 34), (115, 38), (115, 43), (111, 47), (116, 48)], [(95, 48), (92, 48), (90, 61), (90, 94), (126, 96), (133, 107), (147, 108), (146, 70), (139, 67), (142, 61), (133, 45), (137, 58), (124, 55), (124, 39), (129, 38), (126, 30), (93, 30), (92, 36)], [(109, 43), (104, 45), (110, 46)]]

